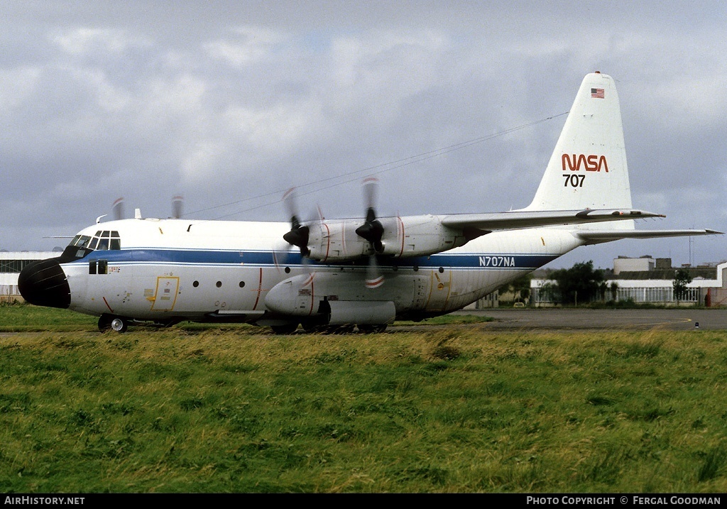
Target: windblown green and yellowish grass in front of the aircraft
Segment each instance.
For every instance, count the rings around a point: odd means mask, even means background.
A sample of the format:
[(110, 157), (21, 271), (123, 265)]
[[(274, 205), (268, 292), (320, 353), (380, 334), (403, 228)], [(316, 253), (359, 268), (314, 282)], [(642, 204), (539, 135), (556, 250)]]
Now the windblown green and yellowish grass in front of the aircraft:
[(727, 491), (726, 332), (0, 324), (2, 492)]

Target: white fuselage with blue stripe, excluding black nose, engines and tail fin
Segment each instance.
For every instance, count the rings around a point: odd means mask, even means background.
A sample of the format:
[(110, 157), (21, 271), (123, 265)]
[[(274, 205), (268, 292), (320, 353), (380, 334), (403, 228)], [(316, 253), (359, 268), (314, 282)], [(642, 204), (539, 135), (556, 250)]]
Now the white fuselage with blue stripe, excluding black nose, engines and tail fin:
[(255, 321), (270, 313), (265, 297), (273, 287), (312, 272), (330, 274), (329, 287), (348, 301), (391, 301), (397, 316), (439, 314), (463, 308), (582, 244), (561, 228), (489, 233), (435, 255), (379, 257), (385, 284), (367, 289), (366, 259), (335, 265), (304, 260), (282, 240), (289, 228), (153, 219), (94, 225), (79, 235), (116, 231), (121, 249), (97, 249), (61, 264), (71, 290), (69, 308), (142, 320), (229, 315)]

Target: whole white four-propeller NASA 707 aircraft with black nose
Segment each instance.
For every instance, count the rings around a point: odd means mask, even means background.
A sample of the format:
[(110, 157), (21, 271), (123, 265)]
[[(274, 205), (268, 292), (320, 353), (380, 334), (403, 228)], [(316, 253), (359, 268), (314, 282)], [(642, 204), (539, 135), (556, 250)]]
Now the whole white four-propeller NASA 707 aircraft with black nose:
[[(28, 265), (26, 301), (99, 316), (101, 330), (180, 321), (381, 331), (461, 309), (586, 244), (696, 236), (635, 229), (614, 80), (585, 76), (531, 204), (500, 213), (290, 223), (142, 218), (81, 230), (63, 255)], [(292, 196), (287, 197), (292, 204)], [(281, 252), (280, 244), (289, 247)], [(297, 248), (297, 249), (296, 249)]]

